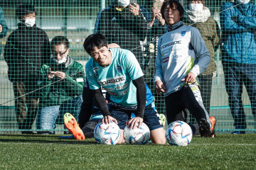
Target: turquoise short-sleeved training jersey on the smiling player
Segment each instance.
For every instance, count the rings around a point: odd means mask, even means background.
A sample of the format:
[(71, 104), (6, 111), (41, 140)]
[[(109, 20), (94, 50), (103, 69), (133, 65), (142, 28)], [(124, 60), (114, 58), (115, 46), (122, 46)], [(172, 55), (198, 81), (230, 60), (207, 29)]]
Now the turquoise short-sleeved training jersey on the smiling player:
[(85, 66), (89, 87), (92, 90), (102, 87), (110, 94), (110, 101), (122, 106), (137, 106), (137, 88), (132, 80), (144, 74), (132, 52), (121, 48), (110, 49), (112, 62), (107, 67), (92, 58)]

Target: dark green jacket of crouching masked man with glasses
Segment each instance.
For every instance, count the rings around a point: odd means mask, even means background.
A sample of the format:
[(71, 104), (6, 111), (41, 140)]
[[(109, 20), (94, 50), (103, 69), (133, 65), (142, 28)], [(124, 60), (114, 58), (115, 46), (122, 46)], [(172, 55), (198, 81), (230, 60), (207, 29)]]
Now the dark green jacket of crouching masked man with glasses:
[[(54, 77), (49, 80), (49, 68), (51, 71), (65, 72), (65, 79), (60, 80), (58, 77)], [(82, 94), (84, 78), (85, 73), (82, 64), (75, 62), (71, 57), (68, 57), (65, 64), (57, 64), (53, 60), (43, 64), (38, 81), (38, 89), (42, 88), (39, 105), (41, 107), (58, 106), (67, 103), (75, 96), (79, 96)]]

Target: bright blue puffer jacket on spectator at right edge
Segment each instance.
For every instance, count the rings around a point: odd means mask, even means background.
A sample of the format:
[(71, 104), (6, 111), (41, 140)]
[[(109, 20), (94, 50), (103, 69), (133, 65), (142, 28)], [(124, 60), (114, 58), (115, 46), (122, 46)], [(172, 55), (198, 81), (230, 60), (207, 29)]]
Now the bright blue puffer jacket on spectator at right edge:
[(222, 60), (256, 64), (256, 6), (223, 4), (220, 11), (222, 28)]

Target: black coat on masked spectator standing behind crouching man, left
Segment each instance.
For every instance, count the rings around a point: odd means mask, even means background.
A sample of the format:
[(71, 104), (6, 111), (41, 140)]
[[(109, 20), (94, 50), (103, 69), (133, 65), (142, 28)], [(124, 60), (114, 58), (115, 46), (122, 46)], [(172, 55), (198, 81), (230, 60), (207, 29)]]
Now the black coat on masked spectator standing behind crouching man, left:
[(18, 23), (4, 49), (10, 81), (24, 81), (38, 77), (41, 66), (50, 60), (50, 42), (46, 32)]

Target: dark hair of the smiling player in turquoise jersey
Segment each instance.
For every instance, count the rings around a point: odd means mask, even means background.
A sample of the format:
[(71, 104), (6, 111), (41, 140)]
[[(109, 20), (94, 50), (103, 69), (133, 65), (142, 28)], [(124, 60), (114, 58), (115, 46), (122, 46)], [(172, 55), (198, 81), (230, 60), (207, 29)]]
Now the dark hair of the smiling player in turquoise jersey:
[(100, 33), (89, 35), (84, 42), (85, 51), (90, 55), (90, 52), (93, 51), (95, 47), (107, 47), (107, 38), (105, 35)]

